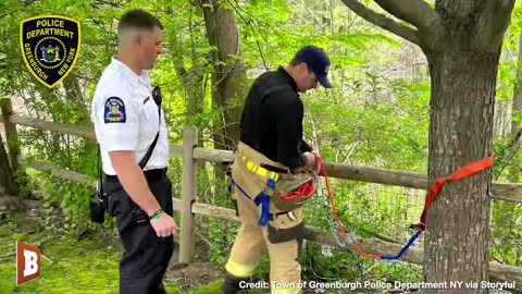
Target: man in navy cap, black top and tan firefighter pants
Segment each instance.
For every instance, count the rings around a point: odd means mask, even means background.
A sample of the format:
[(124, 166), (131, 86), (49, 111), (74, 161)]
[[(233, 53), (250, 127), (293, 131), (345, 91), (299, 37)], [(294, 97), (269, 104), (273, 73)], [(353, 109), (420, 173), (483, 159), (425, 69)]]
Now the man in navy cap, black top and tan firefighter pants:
[[(323, 49), (306, 46), (286, 69), (263, 73), (250, 88), (232, 170), (241, 226), (225, 266), (223, 293), (237, 293), (247, 284), (245, 281), (252, 282), (264, 250), (270, 256), (272, 293), (300, 292), (303, 207), (282, 211), (265, 192), (270, 191), (268, 183), (285, 174), (319, 169), (312, 148), (302, 139), (303, 103), (299, 93), (315, 88), (318, 83), (331, 88), (330, 64)], [(265, 211), (270, 211), (268, 219)]]

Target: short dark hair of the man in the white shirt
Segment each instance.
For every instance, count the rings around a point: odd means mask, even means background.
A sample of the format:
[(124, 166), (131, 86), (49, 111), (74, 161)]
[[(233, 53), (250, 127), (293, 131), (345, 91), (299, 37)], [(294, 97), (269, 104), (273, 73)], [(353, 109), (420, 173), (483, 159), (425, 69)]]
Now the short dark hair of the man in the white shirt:
[(140, 9), (133, 9), (127, 11), (120, 19), (117, 24), (117, 38), (122, 42), (123, 35), (126, 35), (126, 30), (153, 30), (154, 27), (163, 29), (163, 25), (160, 20), (147, 11)]

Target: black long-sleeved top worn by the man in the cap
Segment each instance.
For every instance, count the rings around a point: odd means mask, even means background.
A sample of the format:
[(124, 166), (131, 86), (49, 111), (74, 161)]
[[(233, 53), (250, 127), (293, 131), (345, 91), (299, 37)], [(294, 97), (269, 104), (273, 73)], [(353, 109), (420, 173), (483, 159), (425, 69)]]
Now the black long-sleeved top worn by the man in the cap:
[(294, 78), (283, 68), (261, 74), (241, 113), (240, 140), (290, 169), (307, 163), (312, 148), (302, 139), (303, 105)]

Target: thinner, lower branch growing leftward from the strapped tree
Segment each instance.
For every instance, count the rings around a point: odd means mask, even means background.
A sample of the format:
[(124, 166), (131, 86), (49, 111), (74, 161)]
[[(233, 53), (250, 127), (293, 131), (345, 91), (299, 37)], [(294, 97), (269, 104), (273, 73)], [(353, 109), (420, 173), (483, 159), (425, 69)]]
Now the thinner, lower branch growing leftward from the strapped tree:
[(401, 25), (391, 19), (386, 17), (383, 14), (378, 14), (375, 11), (361, 4), (358, 0), (341, 0), (357, 15), (361, 16), (365, 21), (380, 26), (395, 35), (405, 38), (413, 44), (419, 44), (419, 32), (414, 28)]

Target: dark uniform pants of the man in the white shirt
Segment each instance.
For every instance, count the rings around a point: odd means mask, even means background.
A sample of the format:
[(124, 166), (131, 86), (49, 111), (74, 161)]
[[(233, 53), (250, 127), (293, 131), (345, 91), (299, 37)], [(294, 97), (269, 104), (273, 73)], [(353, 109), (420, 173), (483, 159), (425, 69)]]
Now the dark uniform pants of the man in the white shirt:
[[(172, 217), (172, 182), (164, 173), (147, 177), (161, 208)], [(110, 195), (108, 213), (116, 217), (124, 247), (120, 261), (120, 293), (166, 293), (162, 280), (174, 250), (174, 237), (158, 237), (148, 220), (137, 222), (133, 210), (138, 207), (117, 180), (105, 180), (103, 189)], [(145, 217), (148, 219), (147, 215)]]

